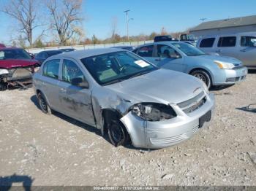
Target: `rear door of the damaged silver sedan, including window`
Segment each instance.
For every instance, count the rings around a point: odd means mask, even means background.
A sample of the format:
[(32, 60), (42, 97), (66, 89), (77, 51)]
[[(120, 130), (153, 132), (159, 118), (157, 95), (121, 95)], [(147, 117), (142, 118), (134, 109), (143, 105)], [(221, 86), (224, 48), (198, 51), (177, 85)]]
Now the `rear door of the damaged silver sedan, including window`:
[(47, 61), (42, 68), (42, 77), (39, 81), (40, 90), (48, 100), (52, 109), (59, 109), (59, 69), (60, 59)]

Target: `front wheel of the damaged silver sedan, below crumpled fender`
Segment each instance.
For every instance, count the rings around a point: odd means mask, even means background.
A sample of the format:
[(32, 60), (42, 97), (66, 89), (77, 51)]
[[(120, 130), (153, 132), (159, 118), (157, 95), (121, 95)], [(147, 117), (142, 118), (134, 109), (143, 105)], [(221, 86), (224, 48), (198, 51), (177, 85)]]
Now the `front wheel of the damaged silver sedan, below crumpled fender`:
[(119, 145), (125, 146), (129, 141), (127, 130), (119, 120), (113, 120), (108, 124), (108, 137), (115, 147), (118, 147)]

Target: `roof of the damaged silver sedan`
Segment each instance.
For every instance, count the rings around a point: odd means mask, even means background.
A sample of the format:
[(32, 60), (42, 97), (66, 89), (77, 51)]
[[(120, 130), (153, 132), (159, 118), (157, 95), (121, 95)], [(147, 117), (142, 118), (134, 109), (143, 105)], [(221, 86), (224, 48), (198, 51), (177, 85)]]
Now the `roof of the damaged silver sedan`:
[(100, 49), (89, 49), (89, 50), (77, 50), (74, 52), (65, 52), (64, 54), (60, 55), (53, 55), (50, 58), (63, 58), (63, 57), (69, 57), (74, 59), (82, 59), (82, 58), (88, 58), (94, 55), (103, 55), (111, 52), (119, 52), (119, 51), (126, 51), (119, 48), (100, 48)]

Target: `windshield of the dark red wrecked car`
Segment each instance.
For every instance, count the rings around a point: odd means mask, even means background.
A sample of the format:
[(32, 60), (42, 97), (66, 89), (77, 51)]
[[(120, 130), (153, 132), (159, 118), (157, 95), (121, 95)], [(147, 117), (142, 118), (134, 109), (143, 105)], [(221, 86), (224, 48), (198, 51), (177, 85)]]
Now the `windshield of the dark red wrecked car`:
[(7, 59), (31, 59), (31, 56), (23, 49), (0, 50), (0, 60)]

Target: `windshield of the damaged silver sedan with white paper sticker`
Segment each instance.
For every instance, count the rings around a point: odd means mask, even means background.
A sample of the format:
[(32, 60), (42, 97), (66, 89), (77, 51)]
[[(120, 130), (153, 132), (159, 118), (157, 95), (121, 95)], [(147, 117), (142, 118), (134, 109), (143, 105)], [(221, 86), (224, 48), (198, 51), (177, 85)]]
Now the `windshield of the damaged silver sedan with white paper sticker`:
[(109, 85), (157, 69), (132, 52), (111, 52), (81, 59), (99, 85)]

